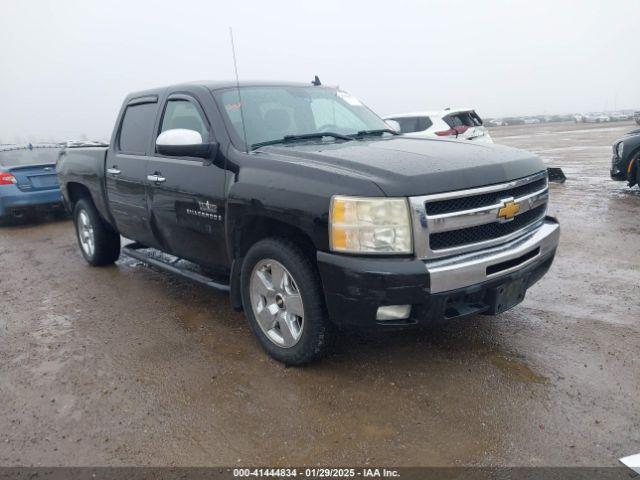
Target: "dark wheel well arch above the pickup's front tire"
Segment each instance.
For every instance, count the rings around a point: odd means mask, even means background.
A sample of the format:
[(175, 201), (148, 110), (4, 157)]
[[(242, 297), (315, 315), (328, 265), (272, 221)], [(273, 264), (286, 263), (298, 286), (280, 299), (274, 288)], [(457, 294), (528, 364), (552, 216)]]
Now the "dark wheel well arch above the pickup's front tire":
[(233, 257), (244, 257), (252, 245), (269, 237), (285, 237), (295, 242), (315, 263), (316, 247), (304, 231), (291, 224), (256, 215), (245, 216), (235, 228)]

